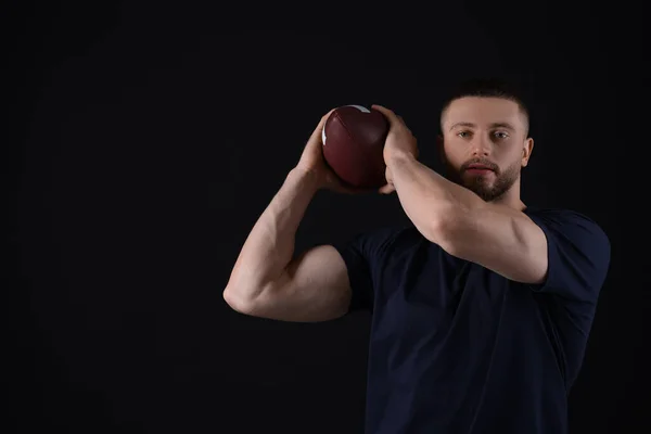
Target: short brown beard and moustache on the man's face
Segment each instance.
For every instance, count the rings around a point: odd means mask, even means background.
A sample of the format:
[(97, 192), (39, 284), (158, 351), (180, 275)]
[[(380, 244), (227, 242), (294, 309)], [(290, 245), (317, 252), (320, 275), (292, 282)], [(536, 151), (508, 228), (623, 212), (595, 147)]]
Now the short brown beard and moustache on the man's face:
[[(493, 184), (489, 183), (488, 176), (473, 175), (463, 177), (463, 173), (468, 169), (471, 164), (486, 165), (493, 169), (495, 181)], [(482, 197), (485, 202), (493, 202), (502, 197), (513, 187), (518, 178), (520, 177), (520, 161), (514, 162), (511, 166), (505, 170), (500, 170), (497, 165), (481, 158), (474, 158), (465, 162), (461, 168), (457, 171), (449, 164), (446, 164), (448, 179), (457, 182), (460, 186), (473, 191), (476, 195)]]

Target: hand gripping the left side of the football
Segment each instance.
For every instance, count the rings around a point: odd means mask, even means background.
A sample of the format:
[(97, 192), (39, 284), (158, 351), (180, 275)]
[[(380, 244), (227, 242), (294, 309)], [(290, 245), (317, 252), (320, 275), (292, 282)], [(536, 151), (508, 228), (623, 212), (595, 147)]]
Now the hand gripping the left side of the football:
[(346, 186), (345, 182), (342, 181), (342, 179), (337, 177), (336, 174), (328, 166), (326, 158), (323, 157), (321, 131), (326, 125), (326, 120), (328, 120), (328, 117), (333, 111), (334, 108), (321, 117), (319, 125), (317, 125), (317, 128), (315, 128), (309, 140), (307, 141), (295, 169), (315, 176), (317, 178), (319, 189), (332, 190), (345, 194), (365, 192), (367, 191), (365, 189), (356, 189)]

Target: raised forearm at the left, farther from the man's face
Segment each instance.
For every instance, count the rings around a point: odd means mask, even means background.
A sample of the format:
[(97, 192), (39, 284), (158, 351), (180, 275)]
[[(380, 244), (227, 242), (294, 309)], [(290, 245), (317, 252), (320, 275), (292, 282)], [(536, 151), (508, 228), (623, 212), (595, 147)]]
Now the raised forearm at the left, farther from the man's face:
[(242, 299), (255, 298), (278, 279), (294, 255), (301, 220), (317, 192), (310, 174), (294, 169), (246, 238), (228, 282)]

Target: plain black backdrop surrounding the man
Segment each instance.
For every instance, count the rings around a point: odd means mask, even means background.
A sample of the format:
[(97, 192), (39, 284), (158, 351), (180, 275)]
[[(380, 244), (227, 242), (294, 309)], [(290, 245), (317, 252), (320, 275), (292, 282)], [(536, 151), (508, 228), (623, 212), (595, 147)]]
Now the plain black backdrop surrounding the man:
[[(14, 2), (3, 15), (16, 73), (8, 432), (361, 432), (368, 315), (283, 323), (234, 312), (221, 291), (322, 114), (393, 108), (437, 169), (443, 94), (476, 75), (529, 89), (524, 202), (585, 213), (613, 244), (572, 432), (649, 430), (637, 397), (649, 296), (624, 284), (599, 17), (515, 3), (375, 3), (378, 16), (99, 4)], [(395, 195), (320, 192), (297, 250), (404, 221)]]

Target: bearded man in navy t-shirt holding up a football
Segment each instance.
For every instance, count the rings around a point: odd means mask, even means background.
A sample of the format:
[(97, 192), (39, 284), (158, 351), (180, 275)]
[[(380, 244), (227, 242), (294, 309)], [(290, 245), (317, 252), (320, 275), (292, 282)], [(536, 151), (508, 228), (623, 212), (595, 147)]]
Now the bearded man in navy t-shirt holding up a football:
[(474, 82), (441, 115), (443, 177), (418, 162), (399, 116), (384, 148), (387, 184), (413, 224), (321, 245), (292, 260), (319, 189), (349, 192), (323, 164), (320, 130), (260, 216), (224, 296), (286, 321), (372, 311), (366, 431), (563, 434), (610, 243), (571, 210), (527, 207), (528, 113)]

